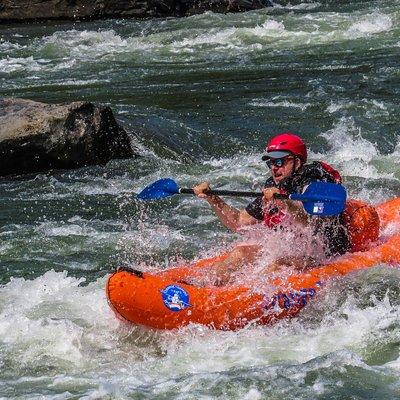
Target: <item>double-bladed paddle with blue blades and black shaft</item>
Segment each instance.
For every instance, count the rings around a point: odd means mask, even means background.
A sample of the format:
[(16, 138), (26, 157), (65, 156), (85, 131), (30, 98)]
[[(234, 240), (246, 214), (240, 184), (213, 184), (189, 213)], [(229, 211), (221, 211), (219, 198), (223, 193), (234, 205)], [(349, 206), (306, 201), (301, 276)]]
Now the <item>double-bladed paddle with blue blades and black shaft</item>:
[[(234, 190), (209, 190), (206, 194), (234, 197), (260, 197), (261, 192), (241, 192)], [(159, 200), (174, 194), (195, 194), (193, 189), (180, 188), (170, 178), (160, 179), (146, 186), (138, 195), (140, 200)], [(327, 217), (340, 214), (346, 205), (346, 190), (342, 185), (328, 182), (311, 182), (304, 193), (289, 195), (276, 194), (277, 199), (301, 201), (310, 215)]]

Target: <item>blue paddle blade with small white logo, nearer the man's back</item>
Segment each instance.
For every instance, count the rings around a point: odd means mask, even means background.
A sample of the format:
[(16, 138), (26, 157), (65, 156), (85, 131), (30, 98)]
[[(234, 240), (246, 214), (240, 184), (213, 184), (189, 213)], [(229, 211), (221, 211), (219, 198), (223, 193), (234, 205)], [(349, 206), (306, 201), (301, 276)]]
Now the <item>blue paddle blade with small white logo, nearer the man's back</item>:
[(312, 182), (304, 193), (290, 198), (302, 201), (308, 214), (320, 217), (338, 215), (346, 206), (346, 190), (335, 183)]

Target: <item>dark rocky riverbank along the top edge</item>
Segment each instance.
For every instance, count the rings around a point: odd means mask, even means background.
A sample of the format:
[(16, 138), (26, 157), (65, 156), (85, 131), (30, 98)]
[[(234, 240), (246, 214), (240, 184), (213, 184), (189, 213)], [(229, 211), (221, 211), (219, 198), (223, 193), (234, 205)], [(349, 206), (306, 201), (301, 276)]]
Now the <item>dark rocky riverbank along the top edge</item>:
[(0, 21), (169, 17), (269, 5), (269, 0), (0, 0)]

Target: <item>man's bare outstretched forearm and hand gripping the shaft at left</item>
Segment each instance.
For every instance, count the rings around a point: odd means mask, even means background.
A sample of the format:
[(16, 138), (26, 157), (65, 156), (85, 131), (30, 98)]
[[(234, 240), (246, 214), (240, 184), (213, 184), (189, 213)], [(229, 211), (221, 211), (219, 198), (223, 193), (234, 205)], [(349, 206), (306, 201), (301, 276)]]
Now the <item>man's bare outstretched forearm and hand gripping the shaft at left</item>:
[(207, 182), (200, 183), (199, 185), (195, 186), (193, 190), (198, 197), (207, 200), (207, 202), (214, 209), (219, 220), (228, 229), (231, 229), (234, 232), (238, 231), (243, 226), (253, 225), (259, 222), (257, 219), (248, 214), (246, 210), (238, 210), (237, 208), (225, 203), (225, 201), (220, 197), (213, 195), (210, 196), (204, 193), (207, 190), (210, 190), (210, 185)]

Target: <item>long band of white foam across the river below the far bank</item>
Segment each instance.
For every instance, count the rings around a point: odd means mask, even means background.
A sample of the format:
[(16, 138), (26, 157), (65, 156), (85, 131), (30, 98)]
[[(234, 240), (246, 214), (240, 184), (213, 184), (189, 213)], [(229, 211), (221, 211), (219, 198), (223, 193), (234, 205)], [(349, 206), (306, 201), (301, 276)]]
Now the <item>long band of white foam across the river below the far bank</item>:
[[(317, 4), (300, 4), (298, 7), (315, 7)], [(296, 6), (289, 6), (296, 8)], [(213, 14), (212, 18), (216, 18)], [(251, 15), (251, 14), (249, 14)], [(193, 17), (202, 21), (204, 17)], [(296, 49), (304, 44), (313, 46), (321, 43), (346, 41), (349, 38), (368, 37), (389, 32), (393, 26), (391, 15), (362, 12), (346, 13), (305, 13), (304, 15), (280, 15), (271, 17), (258, 13), (256, 19), (244, 17), (233, 24), (220, 21), (221, 26), (199, 23), (198, 27), (175, 27), (174, 21), (165, 21), (160, 32), (134, 32), (124, 36), (114, 29), (57, 31), (49, 36), (36, 39), (33, 56), (12, 57), (18, 44), (3, 42), (9, 60), (1, 60), (0, 68), (14, 71), (58, 71), (79, 66), (82, 62), (101, 60), (125, 60), (133, 56), (144, 64), (159, 59), (176, 62), (176, 55), (185, 59), (226, 58), (231, 55), (252, 54), (263, 50), (280, 52), (285, 48)], [(204, 50), (204, 51), (203, 51)], [(39, 57), (40, 58), (39, 58)], [(326, 66), (341, 68), (343, 66)]]

